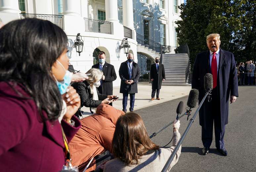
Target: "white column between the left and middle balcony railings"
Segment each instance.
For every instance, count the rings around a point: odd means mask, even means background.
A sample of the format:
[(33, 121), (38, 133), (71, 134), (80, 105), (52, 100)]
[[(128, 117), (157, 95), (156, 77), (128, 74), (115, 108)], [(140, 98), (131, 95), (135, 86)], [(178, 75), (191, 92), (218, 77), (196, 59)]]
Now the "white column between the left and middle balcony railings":
[(80, 16), (80, 0), (63, 0), (63, 14), (68, 16)]

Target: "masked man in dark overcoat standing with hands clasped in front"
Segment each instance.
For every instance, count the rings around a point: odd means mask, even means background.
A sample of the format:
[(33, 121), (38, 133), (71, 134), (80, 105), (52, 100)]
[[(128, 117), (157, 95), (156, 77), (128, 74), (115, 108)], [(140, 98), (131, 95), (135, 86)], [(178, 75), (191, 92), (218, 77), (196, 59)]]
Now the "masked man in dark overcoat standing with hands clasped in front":
[(123, 93), (123, 111), (126, 113), (128, 94), (130, 94), (130, 112), (134, 109), (135, 93), (138, 93), (137, 83), (141, 72), (138, 63), (133, 61), (132, 53), (127, 54), (127, 60), (122, 62), (119, 68), (119, 77), (121, 78), (120, 93)]

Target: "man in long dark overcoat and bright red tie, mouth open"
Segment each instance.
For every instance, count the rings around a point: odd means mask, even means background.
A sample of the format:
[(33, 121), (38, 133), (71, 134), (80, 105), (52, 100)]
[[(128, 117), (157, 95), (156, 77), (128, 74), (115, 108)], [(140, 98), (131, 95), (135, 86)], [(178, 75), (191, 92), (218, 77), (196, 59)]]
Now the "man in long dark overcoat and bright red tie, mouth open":
[(238, 81), (235, 58), (232, 52), (220, 49), (220, 35), (210, 34), (206, 38), (209, 48), (197, 54), (192, 73), (192, 88), (199, 90), (199, 103), (204, 97), (204, 76), (213, 75), (212, 100), (205, 101), (199, 111), (202, 126), (202, 154), (209, 152), (212, 143), (213, 123), (215, 146), (224, 156), (228, 155), (224, 143), (225, 126), (228, 123), (229, 99), (234, 103), (238, 97)]

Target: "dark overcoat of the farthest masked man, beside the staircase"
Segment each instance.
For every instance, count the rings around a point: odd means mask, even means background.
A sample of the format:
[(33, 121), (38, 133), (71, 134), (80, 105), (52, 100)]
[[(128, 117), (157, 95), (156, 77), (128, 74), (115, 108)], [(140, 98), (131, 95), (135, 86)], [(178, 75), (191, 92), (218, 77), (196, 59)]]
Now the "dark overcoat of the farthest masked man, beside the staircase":
[(162, 80), (165, 79), (165, 71), (164, 71), (164, 65), (163, 64), (159, 64), (158, 73), (157, 73), (155, 63), (151, 65), (150, 79), (154, 79), (152, 81), (152, 89), (161, 89)]

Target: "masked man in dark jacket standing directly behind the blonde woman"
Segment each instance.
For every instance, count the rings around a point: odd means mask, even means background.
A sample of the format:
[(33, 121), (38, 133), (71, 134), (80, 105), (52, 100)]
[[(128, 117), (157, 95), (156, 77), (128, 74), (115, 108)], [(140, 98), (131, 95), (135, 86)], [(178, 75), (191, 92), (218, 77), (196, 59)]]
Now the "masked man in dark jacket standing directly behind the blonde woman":
[[(99, 63), (92, 66), (102, 70), (103, 76), (101, 85), (97, 88), (101, 94), (113, 95), (113, 81), (116, 80), (115, 68), (113, 65), (106, 62), (106, 54), (103, 51), (99, 52)], [(109, 103), (112, 106), (112, 103)]]

